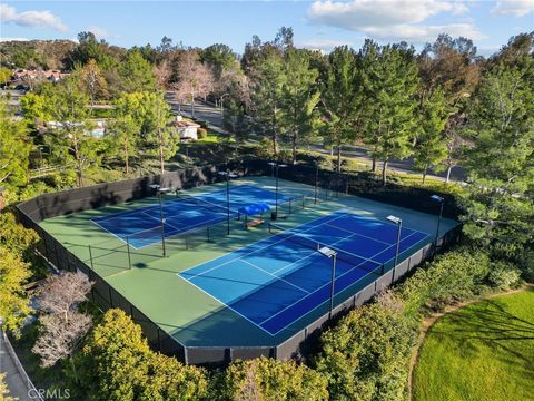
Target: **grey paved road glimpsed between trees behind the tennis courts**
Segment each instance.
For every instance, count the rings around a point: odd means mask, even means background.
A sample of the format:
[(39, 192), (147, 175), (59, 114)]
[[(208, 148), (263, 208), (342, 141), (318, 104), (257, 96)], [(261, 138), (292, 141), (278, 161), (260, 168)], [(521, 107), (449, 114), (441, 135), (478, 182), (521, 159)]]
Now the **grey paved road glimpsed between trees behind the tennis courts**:
[[(178, 114), (178, 102), (174, 99), (171, 92), (166, 94), (167, 101), (170, 104), (172, 111)], [(191, 117), (191, 106), (190, 105), (182, 105), (181, 106), (181, 114), (187, 117)], [(209, 104), (196, 101), (195, 104), (195, 117), (197, 119), (207, 120), (210, 124), (211, 128), (220, 128), (222, 125), (222, 115), (219, 108), (211, 106)], [(224, 131), (224, 130), (222, 130)], [(325, 149), (320, 144), (310, 145), (310, 148), (320, 151), (324, 154), (329, 154), (330, 151)], [(350, 157), (354, 159), (359, 159), (365, 163), (370, 163), (372, 158), (368, 155), (368, 150), (360, 146), (353, 146), (353, 145), (345, 145), (343, 148), (342, 155), (344, 157)], [(382, 167), (382, 164), (378, 164), (378, 168)], [(404, 160), (394, 159), (389, 162), (389, 168), (393, 170), (398, 172), (414, 172), (414, 160), (412, 158), (407, 158)], [(429, 177), (439, 178), (445, 180), (446, 172), (435, 173), (431, 172), (428, 174)], [(466, 179), (465, 169), (461, 166), (453, 167), (451, 172), (451, 179), (452, 180), (459, 180), (464, 182)]]

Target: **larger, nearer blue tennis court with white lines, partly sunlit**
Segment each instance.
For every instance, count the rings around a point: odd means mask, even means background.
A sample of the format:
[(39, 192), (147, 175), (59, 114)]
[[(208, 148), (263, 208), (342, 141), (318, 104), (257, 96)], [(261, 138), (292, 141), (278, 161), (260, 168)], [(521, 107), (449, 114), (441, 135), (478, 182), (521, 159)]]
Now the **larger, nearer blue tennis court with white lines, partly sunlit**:
[[(403, 228), (400, 252), (427, 233)], [(280, 232), (179, 276), (271, 335), (329, 300), (332, 261), (317, 244), (338, 251), (335, 292), (362, 277), (379, 275), (395, 256), (397, 227), (336, 212)]]

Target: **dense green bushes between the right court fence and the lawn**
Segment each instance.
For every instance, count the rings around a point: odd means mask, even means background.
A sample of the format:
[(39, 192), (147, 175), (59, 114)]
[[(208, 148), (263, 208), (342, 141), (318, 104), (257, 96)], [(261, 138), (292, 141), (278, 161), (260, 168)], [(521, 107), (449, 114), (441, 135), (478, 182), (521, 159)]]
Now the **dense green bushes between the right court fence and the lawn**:
[(518, 271), (462, 246), (438, 256), (322, 336), (316, 369), (334, 400), (402, 400), (421, 316), (492, 287), (516, 285)]

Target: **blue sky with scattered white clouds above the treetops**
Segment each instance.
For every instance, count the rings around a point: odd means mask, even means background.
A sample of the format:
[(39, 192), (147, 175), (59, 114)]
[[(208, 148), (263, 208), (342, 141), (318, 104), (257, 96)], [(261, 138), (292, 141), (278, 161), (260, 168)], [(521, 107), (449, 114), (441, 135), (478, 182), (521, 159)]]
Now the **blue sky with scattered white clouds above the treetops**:
[(445, 32), (472, 39), (488, 56), (534, 30), (534, 0), (318, 1), (13, 1), (0, 2), (0, 40), (72, 39), (91, 31), (111, 45), (229, 45), (243, 53), (257, 35), (274, 39), (291, 27), (298, 47), (359, 48), (365, 38), (416, 48)]

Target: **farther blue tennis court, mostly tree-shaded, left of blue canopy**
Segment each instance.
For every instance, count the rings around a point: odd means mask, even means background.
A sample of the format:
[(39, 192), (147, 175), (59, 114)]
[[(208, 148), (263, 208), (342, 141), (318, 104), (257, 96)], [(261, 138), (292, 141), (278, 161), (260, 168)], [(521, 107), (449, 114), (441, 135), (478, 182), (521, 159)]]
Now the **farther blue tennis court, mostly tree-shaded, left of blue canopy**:
[[(165, 236), (194, 231), (226, 222), (226, 189), (215, 190), (198, 196), (164, 197)], [(275, 205), (276, 193), (251, 185), (237, 185), (230, 188), (230, 213), (235, 217), (238, 209), (264, 203)], [(293, 197), (278, 193), (278, 204), (291, 200)], [(161, 241), (160, 207), (158, 200), (154, 205), (132, 211), (119, 212), (97, 217), (92, 223), (109, 232), (135, 248), (152, 245)]]

